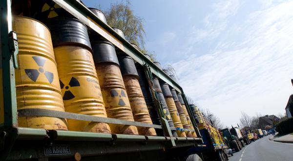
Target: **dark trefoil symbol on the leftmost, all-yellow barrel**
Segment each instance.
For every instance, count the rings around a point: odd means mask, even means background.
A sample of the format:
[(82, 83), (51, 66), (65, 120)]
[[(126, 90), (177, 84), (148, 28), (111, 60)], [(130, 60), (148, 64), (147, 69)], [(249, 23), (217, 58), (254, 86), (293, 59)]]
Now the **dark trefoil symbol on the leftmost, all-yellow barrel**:
[(53, 82), (53, 79), (54, 79), (54, 74), (51, 73), (51, 72), (45, 71), (43, 69), (43, 66), (44, 66), (46, 60), (43, 59), (42, 57), (38, 57), (38, 56), (34, 56), (32, 58), (38, 64), (39, 69), (24, 69), (25, 74), (27, 75), (27, 77), (36, 82), (38, 77), (39, 77), (39, 75), (41, 73), (43, 73), (46, 76), (47, 80), (51, 84)]

